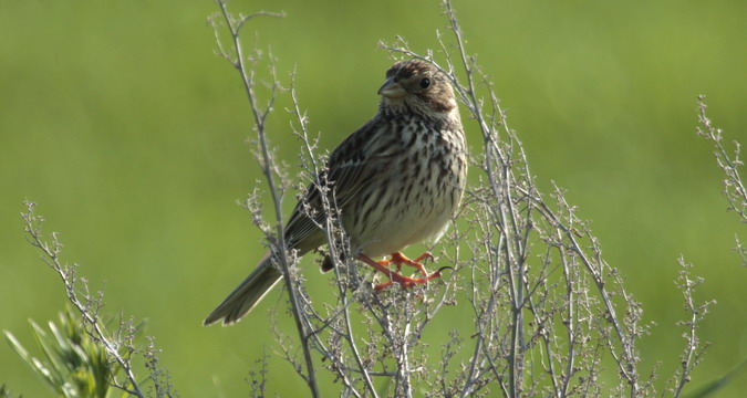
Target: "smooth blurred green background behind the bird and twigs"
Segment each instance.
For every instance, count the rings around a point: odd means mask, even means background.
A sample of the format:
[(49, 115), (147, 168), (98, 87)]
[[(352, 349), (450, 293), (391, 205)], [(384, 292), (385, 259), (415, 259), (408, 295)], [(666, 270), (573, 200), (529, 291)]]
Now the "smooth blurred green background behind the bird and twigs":
[[(400, 34), (422, 51), (446, 25), (436, 1), (230, 6), (288, 13), (251, 22), (246, 41), (257, 33), (271, 45), (286, 82), (297, 65), (301, 105), (325, 149), (375, 112), (391, 63), (377, 41)], [(735, 232), (747, 233), (725, 211), (723, 176), (694, 130), (696, 95), (706, 94), (709, 116), (747, 144), (747, 2), (456, 7), (538, 182), (546, 192), (551, 180), (569, 190), (645, 320), (656, 322), (640, 346), (643, 373), (661, 360), (664, 379), (678, 366), (679, 254), (706, 279), (697, 297), (718, 301), (701, 328), (713, 346), (693, 386), (737, 366), (747, 357), (747, 269), (729, 249)], [(146, 333), (185, 397), (246, 396), (250, 366), (273, 349), (268, 308), (282, 300), (273, 293), (234, 327), (200, 326), (263, 252), (236, 205), (259, 175), (238, 76), (214, 55), (205, 23), (216, 10), (209, 0), (0, 2), (0, 329), (33, 346), (27, 320), (43, 323), (64, 305), (60, 282), (24, 241), (19, 213), (30, 199), (48, 231), (62, 232), (65, 258), (95, 289), (105, 281), (106, 310), (149, 320)], [(287, 104), (281, 98), (270, 128), (297, 170)], [(467, 128), (479, 148), (475, 126)], [(329, 276), (310, 275), (312, 294), (323, 291)], [(445, 331), (449, 321), (432, 327)], [(303, 386), (280, 360), (270, 371), (270, 392)], [(50, 396), (4, 343), (3, 381)], [(745, 389), (743, 373), (717, 396)]]

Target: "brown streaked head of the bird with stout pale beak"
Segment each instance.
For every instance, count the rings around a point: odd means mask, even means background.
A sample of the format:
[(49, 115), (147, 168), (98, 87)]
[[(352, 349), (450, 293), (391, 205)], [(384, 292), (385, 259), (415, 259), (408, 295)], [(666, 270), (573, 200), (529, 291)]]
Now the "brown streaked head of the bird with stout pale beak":
[(393, 113), (417, 112), (437, 117), (448, 115), (457, 107), (446, 75), (421, 60), (400, 61), (392, 65), (378, 94), (382, 106)]

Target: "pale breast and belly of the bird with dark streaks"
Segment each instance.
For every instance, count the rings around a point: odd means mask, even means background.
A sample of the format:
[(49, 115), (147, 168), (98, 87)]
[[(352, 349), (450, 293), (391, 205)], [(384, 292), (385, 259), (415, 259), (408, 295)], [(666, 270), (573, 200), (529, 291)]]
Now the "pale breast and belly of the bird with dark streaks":
[(461, 130), (413, 119), (395, 128), (375, 177), (343, 210), (354, 250), (369, 256), (437, 240), (461, 200), (466, 160)]

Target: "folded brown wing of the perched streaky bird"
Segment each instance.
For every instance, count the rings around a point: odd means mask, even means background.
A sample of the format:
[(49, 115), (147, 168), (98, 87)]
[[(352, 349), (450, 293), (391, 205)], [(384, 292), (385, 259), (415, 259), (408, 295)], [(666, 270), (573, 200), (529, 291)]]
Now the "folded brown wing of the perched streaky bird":
[[(339, 209), (344, 208), (361, 189), (373, 184), (381, 170), (372, 165), (372, 160), (380, 154), (372, 146), (371, 140), (372, 136), (378, 136), (381, 128), (385, 126), (378, 118), (373, 118), (334, 149), (324, 170), (325, 176), (321, 176), (322, 178), (318, 178), (307, 188), (303, 199), (295, 205), (286, 224), (286, 242), (289, 248), (299, 247), (300, 242), (318, 232), (318, 226), (323, 226), (326, 219), (318, 182), (326, 184), (331, 188), (330, 192), (334, 192), (334, 196), (329, 196), (330, 201), (334, 200)], [(333, 205), (335, 203), (330, 206)], [(309, 217), (309, 210), (312, 218)]]

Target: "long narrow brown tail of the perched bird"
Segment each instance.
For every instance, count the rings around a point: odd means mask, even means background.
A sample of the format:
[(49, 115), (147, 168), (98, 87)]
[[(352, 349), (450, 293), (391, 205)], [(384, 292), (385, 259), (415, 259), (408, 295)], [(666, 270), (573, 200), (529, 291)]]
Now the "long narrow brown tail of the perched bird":
[(222, 320), (224, 325), (239, 321), (259, 303), (267, 292), (280, 281), (282, 274), (272, 266), (270, 255), (264, 255), (257, 269), (241, 282), (231, 294), (208, 315), (203, 325)]

